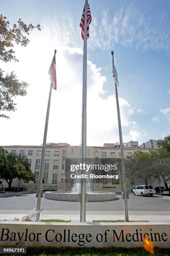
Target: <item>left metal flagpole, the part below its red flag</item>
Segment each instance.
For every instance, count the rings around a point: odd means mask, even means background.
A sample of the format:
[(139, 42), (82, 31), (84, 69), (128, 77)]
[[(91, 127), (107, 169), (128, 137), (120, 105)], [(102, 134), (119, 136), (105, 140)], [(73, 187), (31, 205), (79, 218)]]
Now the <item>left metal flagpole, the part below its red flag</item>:
[[(37, 211), (40, 210), (40, 205), (41, 205), (42, 179), (44, 174), (45, 148), (46, 148), (46, 141), (47, 141), (47, 129), (48, 129), (48, 119), (49, 119), (49, 113), (50, 113), (51, 92), (52, 92), (52, 83), (50, 84), (50, 92), (48, 97), (47, 114), (46, 114), (46, 120), (45, 120), (44, 139), (43, 139), (41, 164), (40, 164), (40, 174), (39, 174), (38, 187), (37, 187), (37, 197), (38, 197)], [(40, 213), (38, 213), (37, 220), (39, 220), (39, 218), (40, 218)]]

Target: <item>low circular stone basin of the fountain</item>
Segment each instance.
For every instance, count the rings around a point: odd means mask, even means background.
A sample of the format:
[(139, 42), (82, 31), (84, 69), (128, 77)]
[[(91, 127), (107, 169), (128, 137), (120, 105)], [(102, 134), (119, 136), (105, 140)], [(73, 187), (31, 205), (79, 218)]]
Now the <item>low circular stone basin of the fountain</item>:
[[(51, 191), (45, 192), (44, 198), (58, 201), (80, 202), (80, 194), (69, 191)], [(100, 202), (116, 199), (114, 192), (90, 192), (86, 194), (86, 202)]]

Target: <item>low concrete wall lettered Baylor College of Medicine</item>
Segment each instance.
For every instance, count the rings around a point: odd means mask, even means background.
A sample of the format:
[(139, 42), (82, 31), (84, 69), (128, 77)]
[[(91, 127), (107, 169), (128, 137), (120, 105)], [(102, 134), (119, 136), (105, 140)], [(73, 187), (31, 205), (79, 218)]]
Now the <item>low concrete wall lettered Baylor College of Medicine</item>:
[(0, 223), (1, 247), (170, 247), (170, 224), (157, 223)]

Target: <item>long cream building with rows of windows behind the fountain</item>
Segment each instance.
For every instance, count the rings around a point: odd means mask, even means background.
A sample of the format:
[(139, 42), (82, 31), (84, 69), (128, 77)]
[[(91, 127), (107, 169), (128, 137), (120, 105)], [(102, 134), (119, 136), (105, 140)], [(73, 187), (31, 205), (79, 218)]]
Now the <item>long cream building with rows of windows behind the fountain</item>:
[[(148, 152), (149, 148), (139, 148), (136, 147), (136, 142), (130, 141), (127, 145), (133, 145), (135, 147), (125, 147), (124, 157), (131, 156), (135, 151), (145, 151)], [(33, 182), (29, 182), (28, 184), (20, 183), (20, 186), (29, 187), (34, 185), (32, 188), (36, 188), (37, 181), (40, 173), (40, 162), (41, 162), (41, 154), (42, 154), (42, 146), (3, 146), (5, 150), (8, 152), (12, 152), (13, 154), (25, 154), (28, 157), (28, 161), (31, 164), (31, 170), (35, 174), (36, 180)], [(67, 184), (67, 180), (65, 177), (65, 159), (66, 158), (75, 158), (79, 159), (81, 157), (81, 146), (70, 146), (67, 143), (47, 143), (46, 151), (45, 151), (45, 163), (44, 163), (44, 186), (45, 187), (57, 187), (57, 190), (70, 190), (71, 187)], [(119, 159), (121, 158), (120, 148), (114, 146), (113, 143), (105, 143), (102, 147), (95, 146), (87, 146), (87, 158), (92, 159)], [(121, 176), (120, 174), (118, 174)], [(154, 182), (154, 181), (153, 181)], [(150, 181), (150, 183), (153, 183)], [(23, 181), (24, 183), (24, 181)], [(144, 181), (142, 179), (127, 179), (127, 185), (129, 189), (131, 189), (134, 184), (143, 184)], [(13, 181), (13, 186), (17, 186), (17, 180)], [(121, 177), (119, 181), (114, 180), (112, 184), (107, 184), (107, 181), (103, 180), (103, 186), (98, 187), (97, 190), (102, 190), (110, 186), (121, 188)], [(5, 186), (5, 185), (4, 185)], [(93, 188), (95, 189), (95, 188)], [(118, 189), (118, 190), (119, 190)]]

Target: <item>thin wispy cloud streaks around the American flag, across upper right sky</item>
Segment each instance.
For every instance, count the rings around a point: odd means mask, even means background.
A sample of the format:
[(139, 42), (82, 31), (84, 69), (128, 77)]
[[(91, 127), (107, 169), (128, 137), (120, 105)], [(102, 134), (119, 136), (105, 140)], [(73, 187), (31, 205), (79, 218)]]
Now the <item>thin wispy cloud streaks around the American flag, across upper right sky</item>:
[[(114, 15), (110, 15), (105, 8), (101, 13), (98, 10), (97, 13), (92, 10), (88, 49), (107, 50), (119, 44), (126, 48), (153, 49), (170, 54), (170, 31), (168, 29), (170, 21), (168, 15), (160, 16), (161, 14), (147, 16), (143, 10), (136, 8), (133, 4), (126, 9), (117, 10)], [(79, 21), (76, 20), (76, 22)], [(75, 18), (71, 14), (62, 13), (52, 20), (46, 19), (45, 23), (53, 24), (50, 28), (53, 31), (52, 35), (57, 31), (58, 39), (65, 45), (82, 48), (82, 38), (77, 36), (80, 35), (81, 28), (75, 26)]]

